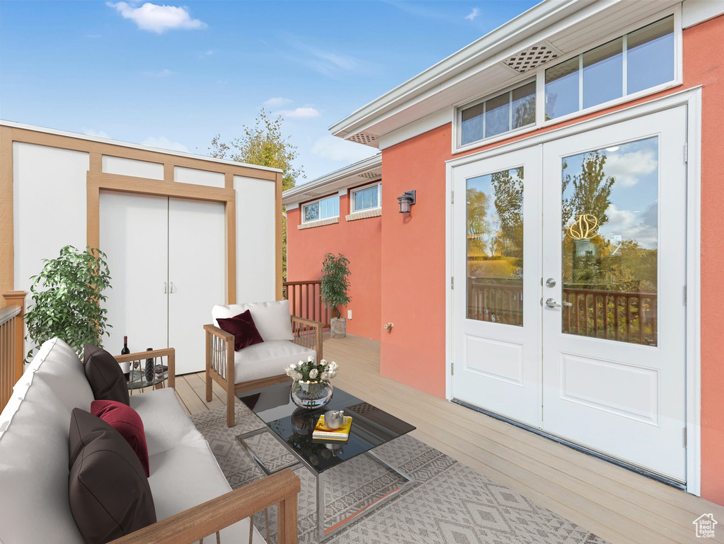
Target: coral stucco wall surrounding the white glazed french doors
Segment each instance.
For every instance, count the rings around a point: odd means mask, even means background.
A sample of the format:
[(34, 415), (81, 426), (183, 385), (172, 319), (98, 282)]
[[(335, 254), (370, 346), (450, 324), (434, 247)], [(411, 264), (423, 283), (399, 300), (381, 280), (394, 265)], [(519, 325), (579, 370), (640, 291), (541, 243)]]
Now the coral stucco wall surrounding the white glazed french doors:
[[(702, 496), (724, 504), (724, 64), (711, 54), (721, 43), (724, 16), (683, 31), (683, 86), (575, 120), (481, 146), (501, 146), (615, 109), (702, 85)], [(445, 396), (445, 161), (452, 159), (450, 124), (382, 151), (384, 207), (417, 191), (409, 216), (382, 219), (382, 332), (380, 371), (433, 395)], [(691, 152), (696, 153), (695, 150)], [(462, 155), (462, 154), (460, 154)]]

